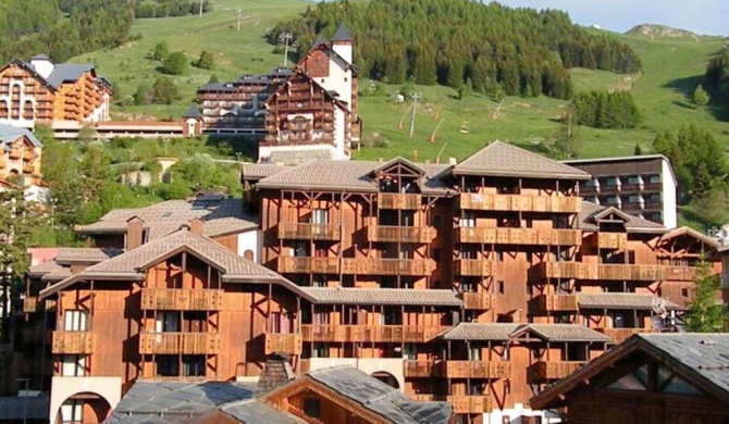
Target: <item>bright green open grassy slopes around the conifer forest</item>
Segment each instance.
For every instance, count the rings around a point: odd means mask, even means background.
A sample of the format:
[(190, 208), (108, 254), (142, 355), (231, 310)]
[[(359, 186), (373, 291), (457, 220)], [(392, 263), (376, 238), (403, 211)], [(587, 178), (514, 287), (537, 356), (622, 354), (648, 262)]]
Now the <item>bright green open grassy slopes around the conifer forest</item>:
[[(75, 62), (95, 63), (99, 72), (107, 75), (118, 89), (116, 98), (131, 96), (140, 84), (151, 85), (159, 75), (159, 62), (146, 59), (148, 52), (160, 40), (166, 40), (172, 51), (185, 51), (190, 61), (202, 49), (215, 55), (217, 68), (202, 71), (189, 68), (187, 75), (175, 77), (184, 98), (174, 105), (115, 107), (114, 111), (128, 114), (150, 114), (158, 117), (178, 116), (195, 97), (195, 89), (215, 74), (221, 80), (244, 73), (267, 72), (282, 65), (283, 55), (274, 54), (263, 35), (279, 20), (302, 12), (310, 4), (304, 0), (217, 0), (215, 10), (203, 17), (185, 16), (162, 20), (138, 20), (133, 32), (143, 38), (120, 49), (100, 51), (75, 58)], [(237, 9), (243, 9), (240, 30), (235, 29)], [(581, 157), (632, 154), (635, 144), (643, 150), (650, 148), (657, 130), (674, 128), (683, 122), (693, 122), (706, 128), (729, 148), (729, 123), (717, 120), (712, 109), (696, 110), (690, 105), (688, 96), (699, 84), (705, 62), (725, 40), (703, 38), (690, 39), (622, 36), (643, 60), (644, 72), (640, 75), (615, 75), (607, 72), (572, 70), (576, 90), (632, 89), (635, 101), (644, 116), (639, 128), (631, 130), (604, 130), (580, 128)], [(379, 84), (379, 83), (375, 83)], [(367, 87), (368, 82), (360, 82)], [(510, 140), (533, 148), (548, 138), (557, 128), (564, 101), (536, 98), (508, 97), (503, 103), (473, 95), (466, 100), (456, 99), (456, 92), (445, 87), (416, 87), (422, 92), (418, 105), (416, 130), (408, 137), (409, 116), (405, 116), (410, 104), (393, 103), (388, 95), (399, 87), (383, 86), (360, 101), (364, 121), (364, 138), (378, 134), (384, 137), (384, 147), (363, 147), (356, 152), (357, 159), (391, 158), (401, 154), (418, 160), (442, 158), (462, 159), (493, 139)], [(403, 128), (398, 128), (403, 120)], [(443, 120), (435, 142), (429, 136)], [(464, 123), (468, 134), (461, 134)], [(382, 145), (380, 145), (382, 146)], [(417, 153), (416, 153), (417, 152)]]

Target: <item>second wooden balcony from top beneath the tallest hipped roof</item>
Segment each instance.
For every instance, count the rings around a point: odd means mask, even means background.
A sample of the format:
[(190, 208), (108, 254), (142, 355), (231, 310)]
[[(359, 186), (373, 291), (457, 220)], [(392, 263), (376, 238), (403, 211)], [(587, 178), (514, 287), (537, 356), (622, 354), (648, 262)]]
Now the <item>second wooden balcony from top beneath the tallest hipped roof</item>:
[(456, 240), (485, 245), (580, 246), (579, 229), (459, 227)]

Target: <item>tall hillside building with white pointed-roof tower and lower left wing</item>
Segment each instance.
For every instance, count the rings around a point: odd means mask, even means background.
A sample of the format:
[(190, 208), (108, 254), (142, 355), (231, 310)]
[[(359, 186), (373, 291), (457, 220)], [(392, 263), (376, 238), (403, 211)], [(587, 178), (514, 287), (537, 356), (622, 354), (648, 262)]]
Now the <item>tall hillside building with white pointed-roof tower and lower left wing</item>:
[(330, 41), (318, 38), (294, 70), (200, 87), (205, 130), (255, 136), (259, 162), (349, 159), (361, 132), (353, 47), (339, 26)]

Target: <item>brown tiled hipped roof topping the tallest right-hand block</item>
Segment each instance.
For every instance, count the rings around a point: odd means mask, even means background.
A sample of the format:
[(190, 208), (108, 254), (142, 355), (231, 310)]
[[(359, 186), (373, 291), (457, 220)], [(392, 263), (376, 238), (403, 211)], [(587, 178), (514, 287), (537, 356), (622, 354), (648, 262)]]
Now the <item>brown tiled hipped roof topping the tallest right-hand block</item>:
[(494, 141), (453, 169), (456, 175), (590, 179), (590, 174), (541, 154)]

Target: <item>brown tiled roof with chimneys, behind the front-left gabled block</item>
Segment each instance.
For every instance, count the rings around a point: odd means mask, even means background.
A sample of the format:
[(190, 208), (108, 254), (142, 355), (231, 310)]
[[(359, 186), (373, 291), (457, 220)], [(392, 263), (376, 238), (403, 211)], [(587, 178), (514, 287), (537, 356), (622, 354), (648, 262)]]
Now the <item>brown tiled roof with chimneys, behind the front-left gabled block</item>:
[(175, 232), (195, 219), (203, 222), (206, 236), (242, 233), (258, 227), (258, 217), (247, 214), (240, 199), (168, 200), (147, 208), (115, 209), (94, 224), (78, 227), (82, 234), (124, 233), (127, 221), (137, 216), (147, 228), (147, 241)]

